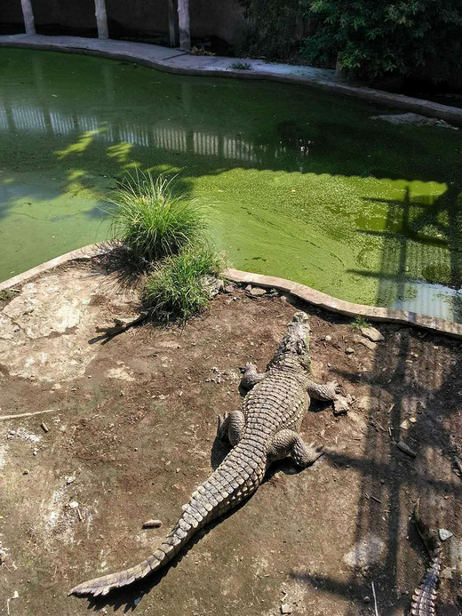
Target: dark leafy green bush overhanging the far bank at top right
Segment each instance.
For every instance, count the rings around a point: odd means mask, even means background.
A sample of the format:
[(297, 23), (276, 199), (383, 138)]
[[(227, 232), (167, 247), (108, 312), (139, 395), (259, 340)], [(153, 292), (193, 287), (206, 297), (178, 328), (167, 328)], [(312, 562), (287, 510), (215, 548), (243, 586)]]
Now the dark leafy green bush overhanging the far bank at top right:
[(339, 64), (365, 78), (416, 75), (450, 79), (462, 67), (461, 0), (300, 0), (317, 31), (307, 60)]

